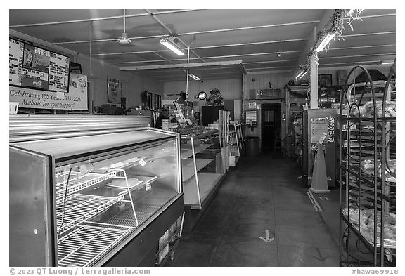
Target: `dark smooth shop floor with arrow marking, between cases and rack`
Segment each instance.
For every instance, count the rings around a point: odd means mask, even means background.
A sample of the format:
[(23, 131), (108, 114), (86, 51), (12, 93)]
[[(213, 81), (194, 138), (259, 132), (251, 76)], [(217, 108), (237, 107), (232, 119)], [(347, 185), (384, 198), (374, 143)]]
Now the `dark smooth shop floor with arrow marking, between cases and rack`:
[(241, 157), (166, 266), (339, 266), (339, 190), (316, 211), (298, 177), (293, 159)]

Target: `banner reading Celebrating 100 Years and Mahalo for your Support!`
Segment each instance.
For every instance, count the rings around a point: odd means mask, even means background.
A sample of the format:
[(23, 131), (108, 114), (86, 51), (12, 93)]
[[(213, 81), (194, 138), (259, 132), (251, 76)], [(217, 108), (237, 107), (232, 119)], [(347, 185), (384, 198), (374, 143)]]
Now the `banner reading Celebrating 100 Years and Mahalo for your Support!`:
[(10, 102), (19, 107), (49, 110), (87, 110), (87, 76), (70, 74), (69, 93), (9, 86)]

